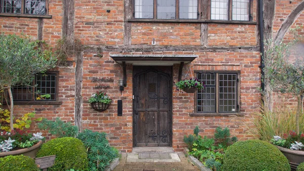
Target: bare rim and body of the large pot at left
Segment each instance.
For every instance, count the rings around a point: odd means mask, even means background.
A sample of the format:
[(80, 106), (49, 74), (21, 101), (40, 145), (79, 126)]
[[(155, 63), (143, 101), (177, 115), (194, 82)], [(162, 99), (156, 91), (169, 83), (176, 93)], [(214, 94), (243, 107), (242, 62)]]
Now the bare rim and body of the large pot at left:
[(1, 152), (0, 153), (0, 157), (5, 157), (8, 155), (20, 155), (23, 154), (25, 156), (29, 156), (30, 158), (35, 158), (36, 157), (36, 153), (38, 152), (38, 150), (40, 149), (40, 146), (42, 145), (42, 141), (38, 142), (37, 144), (29, 147), (29, 148), (23, 148), (20, 150), (14, 150), (14, 151), (8, 151), (8, 152)]

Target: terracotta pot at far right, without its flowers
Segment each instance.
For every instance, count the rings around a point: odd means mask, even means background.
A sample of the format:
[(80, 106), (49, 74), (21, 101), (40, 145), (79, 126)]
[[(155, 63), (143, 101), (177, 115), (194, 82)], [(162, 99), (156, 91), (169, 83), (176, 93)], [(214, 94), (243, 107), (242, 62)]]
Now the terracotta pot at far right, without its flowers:
[(304, 162), (304, 151), (290, 150), (288, 148), (283, 148), (280, 146), (276, 147), (286, 156), (291, 169), (295, 170), (301, 162)]

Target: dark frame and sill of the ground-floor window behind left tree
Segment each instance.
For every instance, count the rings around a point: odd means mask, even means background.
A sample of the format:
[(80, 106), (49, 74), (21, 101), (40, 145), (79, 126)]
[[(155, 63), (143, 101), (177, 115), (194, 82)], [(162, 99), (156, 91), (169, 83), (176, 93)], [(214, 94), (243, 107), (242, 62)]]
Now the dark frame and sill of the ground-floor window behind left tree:
[[(41, 73), (38, 73), (41, 74)], [(56, 77), (56, 90), (55, 90), (55, 100), (36, 100), (35, 93), (32, 93), (31, 100), (15, 100), (14, 104), (62, 104), (61, 101), (59, 101), (59, 71), (47, 71), (44, 74), (55, 74)], [(34, 79), (32, 81), (32, 84), (36, 84), (36, 75), (34, 76)]]

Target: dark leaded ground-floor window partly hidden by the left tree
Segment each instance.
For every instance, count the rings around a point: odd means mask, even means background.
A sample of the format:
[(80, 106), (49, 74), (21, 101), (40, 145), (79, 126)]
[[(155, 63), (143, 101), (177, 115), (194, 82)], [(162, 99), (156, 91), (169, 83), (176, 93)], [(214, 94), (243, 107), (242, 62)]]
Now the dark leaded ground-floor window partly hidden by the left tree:
[(12, 88), (13, 99), (14, 101), (56, 101), (57, 83), (56, 73), (36, 74), (32, 82), (35, 86), (17, 85)]

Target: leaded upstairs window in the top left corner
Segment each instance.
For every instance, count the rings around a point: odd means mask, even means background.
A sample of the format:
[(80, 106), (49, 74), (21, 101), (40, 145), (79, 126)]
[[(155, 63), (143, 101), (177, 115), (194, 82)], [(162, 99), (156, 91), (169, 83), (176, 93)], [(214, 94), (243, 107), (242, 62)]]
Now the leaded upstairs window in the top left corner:
[(0, 0), (0, 15), (44, 17), (47, 15), (48, 0)]

